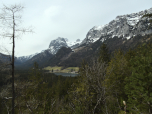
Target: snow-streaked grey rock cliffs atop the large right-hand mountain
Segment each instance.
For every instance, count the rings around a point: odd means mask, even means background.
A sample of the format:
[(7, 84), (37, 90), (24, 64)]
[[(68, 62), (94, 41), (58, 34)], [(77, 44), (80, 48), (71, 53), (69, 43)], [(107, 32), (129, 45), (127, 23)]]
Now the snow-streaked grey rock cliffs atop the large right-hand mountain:
[(146, 13), (152, 13), (152, 8), (138, 13), (117, 16), (104, 26), (95, 26), (89, 30), (80, 45), (94, 43), (99, 39), (103, 42), (106, 38), (114, 38), (115, 36), (130, 39), (137, 35), (151, 34), (152, 29), (148, 29), (149, 20), (145, 17), (142, 18)]

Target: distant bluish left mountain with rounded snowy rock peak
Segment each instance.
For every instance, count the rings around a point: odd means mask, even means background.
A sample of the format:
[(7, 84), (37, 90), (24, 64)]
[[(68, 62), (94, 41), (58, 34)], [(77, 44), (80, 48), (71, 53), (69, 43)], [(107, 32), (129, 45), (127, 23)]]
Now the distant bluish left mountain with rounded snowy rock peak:
[[(76, 46), (79, 46), (80, 42), (80, 39), (77, 39), (75, 42), (69, 42), (67, 38), (58, 37), (50, 42), (48, 49), (43, 50), (40, 53), (32, 54), (29, 56), (16, 57), (15, 64), (17, 66), (20, 64), (23, 64), (24, 66), (32, 66), (35, 61), (41, 63), (42, 60), (51, 58), (53, 55), (55, 55), (62, 47), (74, 48)], [(41, 64), (41, 66), (43, 65)]]

